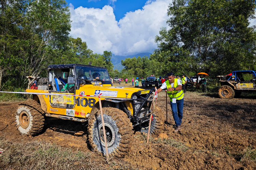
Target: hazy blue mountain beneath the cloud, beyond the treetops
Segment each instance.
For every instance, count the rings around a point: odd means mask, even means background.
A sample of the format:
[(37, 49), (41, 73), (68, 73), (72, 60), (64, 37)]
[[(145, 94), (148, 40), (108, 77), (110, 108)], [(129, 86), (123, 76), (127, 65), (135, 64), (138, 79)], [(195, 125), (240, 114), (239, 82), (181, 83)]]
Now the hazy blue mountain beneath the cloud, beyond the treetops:
[(128, 56), (120, 56), (120, 55), (113, 54), (112, 59), (111, 59), (113, 66), (114, 66), (113, 69), (114, 70), (117, 69), (118, 71), (121, 71), (124, 68), (124, 66), (122, 66), (122, 64), (121, 64), (121, 61), (125, 60), (125, 58), (133, 58), (133, 57), (138, 58), (138, 56), (140, 56), (140, 57), (147, 56), (149, 58), (150, 54), (152, 54), (152, 53), (145, 52), (145, 53), (139, 53), (139, 54), (128, 55)]

